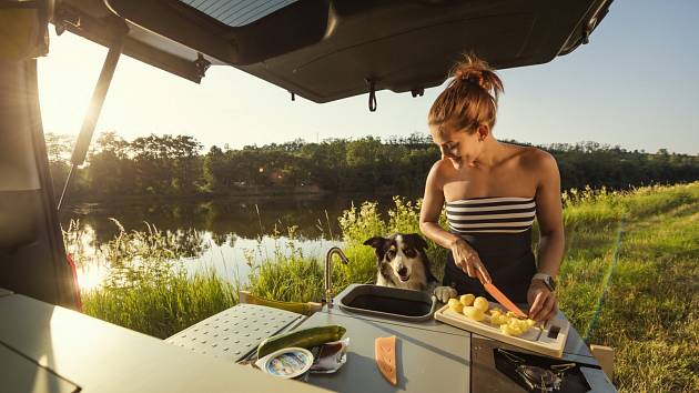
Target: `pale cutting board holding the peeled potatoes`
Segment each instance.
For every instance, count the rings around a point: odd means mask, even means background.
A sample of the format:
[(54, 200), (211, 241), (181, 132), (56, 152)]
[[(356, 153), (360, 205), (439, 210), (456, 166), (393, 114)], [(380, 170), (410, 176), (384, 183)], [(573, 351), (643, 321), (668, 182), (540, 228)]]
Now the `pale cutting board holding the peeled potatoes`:
[[(493, 306), (499, 308), (499, 304), (490, 303), (490, 308)], [(568, 331), (570, 330), (570, 323), (565, 318), (556, 315), (556, 318), (549, 320), (544, 325), (543, 330), (535, 326), (520, 336), (511, 336), (500, 332), (499, 326), (492, 325), (489, 315), (486, 315), (485, 320), (476, 322), (462, 313), (452, 311), (448, 305), (437, 310), (437, 312), (435, 312), (435, 319), (493, 340), (557, 359), (563, 356), (563, 350), (566, 346)], [(551, 329), (554, 331), (556, 330), (555, 326), (560, 330), (555, 337), (550, 337), (549, 333), (551, 333)]]

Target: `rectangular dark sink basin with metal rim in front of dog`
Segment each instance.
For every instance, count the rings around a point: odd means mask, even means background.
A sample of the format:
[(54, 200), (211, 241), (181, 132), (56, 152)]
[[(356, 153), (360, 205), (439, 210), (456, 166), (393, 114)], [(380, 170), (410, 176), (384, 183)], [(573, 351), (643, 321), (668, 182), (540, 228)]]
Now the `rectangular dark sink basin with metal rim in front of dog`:
[(437, 306), (437, 300), (425, 292), (378, 285), (355, 285), (337, 303), (345, 312), (405, 321), (429, 320)]

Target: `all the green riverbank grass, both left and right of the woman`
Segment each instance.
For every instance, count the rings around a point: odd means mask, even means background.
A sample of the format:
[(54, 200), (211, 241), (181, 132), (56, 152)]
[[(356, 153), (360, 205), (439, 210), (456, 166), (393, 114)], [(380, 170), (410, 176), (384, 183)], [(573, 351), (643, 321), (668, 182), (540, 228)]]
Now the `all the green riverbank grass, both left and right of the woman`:
[[(699, 391), (699, 182), (624, 193), (571, 190), (564, 202), (560, 308), (581, 334), (589, 330), (590, 343), (616, 349), (614, 382), (619, 391)], [(372, 202), (345, 211), (340, 223), (351, 263), (334, 264), (335, 292), (350, 283), (373, 282), (373, 250), (362, 243), (375, 234), (418, 232), (418, 211), (419, 202), (401, 198), (386, 218)], [(621, 221), (625, 230), (618, 244)], [(235, 304), (236, 286), (213, 271), (188, 276), (168, 262), (180, 252), (168, 236), (151, 228), (122, 230), (103, 245), (98, 256), (110, 261), (109, 284), (83, 293), (84, 311), (166, 337)], [(288, 238), (254, 265), (250, 290), (269, 299), (318, 301), (322, 263), (295, 248), (294, 229)], [(80, 244), (79, 239), (74, 231), (67, 234), (69, 243)], [(610, 272), (617, 251), (616, 270)], [(433, 244), (428, 255), (440, 276), (446, 250)], [(592, 325), (608, 275), (604, 308)]]

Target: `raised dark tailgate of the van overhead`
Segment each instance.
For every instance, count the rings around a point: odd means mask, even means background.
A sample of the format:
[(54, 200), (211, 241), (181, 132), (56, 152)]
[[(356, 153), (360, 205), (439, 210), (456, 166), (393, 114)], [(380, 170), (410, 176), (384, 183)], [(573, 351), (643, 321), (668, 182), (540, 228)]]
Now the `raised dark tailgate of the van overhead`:
[[(589, 38), (611, 0), (63, 0), (53, 23), (200, 82), (232, 66), (315, 102), (421, 94), (474, 51), (498, 69)], [(234, 90), (235, 87), (231, 87)]]

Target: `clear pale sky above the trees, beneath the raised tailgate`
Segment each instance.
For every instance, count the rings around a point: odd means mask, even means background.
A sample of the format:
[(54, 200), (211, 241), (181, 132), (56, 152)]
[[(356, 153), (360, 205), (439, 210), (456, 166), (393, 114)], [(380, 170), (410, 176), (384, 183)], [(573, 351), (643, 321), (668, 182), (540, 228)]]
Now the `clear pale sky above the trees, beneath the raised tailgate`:
[[(629, 150), (699, 154), (697, 0), (616, 0), (590, 43), (546, 64), (499, 71), (505, 84), (494, 135), (534, 144), (595, 141)], [(51, 29), (53, 30), (53, 29)], [(78, 134), (107, 49), (51, 33), (39, 59), (45, 132)], [(232, 67), (212, 67), (201, 84), (121, 57), (95, 133), (126, 140), (189, 134), (242, 148), (295, 139), (427, 133), (443, 87), (422, 98), (377, 92), (317, 104)]]

